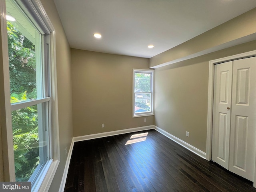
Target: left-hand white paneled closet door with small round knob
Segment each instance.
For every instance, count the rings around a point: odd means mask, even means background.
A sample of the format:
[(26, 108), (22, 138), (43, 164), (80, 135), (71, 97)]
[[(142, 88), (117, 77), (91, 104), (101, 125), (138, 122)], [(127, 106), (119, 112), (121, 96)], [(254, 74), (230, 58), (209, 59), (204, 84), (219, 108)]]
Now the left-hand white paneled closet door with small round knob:
[(215, 65), (212, 160), (228, 169), (232, 61)]

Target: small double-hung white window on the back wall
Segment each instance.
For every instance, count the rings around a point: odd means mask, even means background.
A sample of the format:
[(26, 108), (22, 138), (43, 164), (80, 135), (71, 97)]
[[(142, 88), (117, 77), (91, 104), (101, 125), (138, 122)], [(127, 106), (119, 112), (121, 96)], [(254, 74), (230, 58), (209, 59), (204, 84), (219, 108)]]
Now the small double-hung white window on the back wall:
[(154, 115), (154, 70), (133, 69), (133, 117)]

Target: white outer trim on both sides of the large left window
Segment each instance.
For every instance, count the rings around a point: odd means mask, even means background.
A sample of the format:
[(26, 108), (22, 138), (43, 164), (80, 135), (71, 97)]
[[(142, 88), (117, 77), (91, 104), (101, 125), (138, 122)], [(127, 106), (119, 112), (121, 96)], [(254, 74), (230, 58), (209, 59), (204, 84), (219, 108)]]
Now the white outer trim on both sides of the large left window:
[[(26, 0), (19, 1), (23, 8), (27, 8), (32, 13), (32, 16), (36, 16), (36, 22), (40, 23), (40, 27), (43, 28), (46, 34), (50, 34), (50, 66), (51, 66), (51, 103), (52, 103), (52, 160), (48, 161), (47, 165), (42, 172), (38, 185), (32, 190), (38, 192), (47, 192), (50, 188), (51, 182), (54, 178), (54, 174), (58, 168), (60, 162), (60, 146), (59, 146), (59, 124), (58, 124), (58, 101), (57, 101), (57, 78), (56, 78), (56, 37), (55, 30), (48, 18), (40, 0)], [(4, 162), (4, 181), (15, 181), (15, 168), (14, 168), (14, 151), (13, 151), (13, 138), (12, 138), (12, 118), (11, 118), (11, 105), (10, 105), (10, 84), (6, 79), (9, 79), (9, 67), (8, 67), (8, 41), (6, 30), (6, 6), (5, 0), (0, 0), (0, 35), (2, 47), (0, 47), (0, 62), (3, 66), (0, 66), (0, 72), (3, 74), (5, 80), (3, 84), (0, 84), (1, 92), (0, 98), (4, 98), (4, 102), (0, 105), (0, 125), (2, 128), (2, 143), (3, 143), (3, 162)], [(1, 74), (1, 75), (2, 75)], [(2, 79), (1, 79), (2, 80)]]

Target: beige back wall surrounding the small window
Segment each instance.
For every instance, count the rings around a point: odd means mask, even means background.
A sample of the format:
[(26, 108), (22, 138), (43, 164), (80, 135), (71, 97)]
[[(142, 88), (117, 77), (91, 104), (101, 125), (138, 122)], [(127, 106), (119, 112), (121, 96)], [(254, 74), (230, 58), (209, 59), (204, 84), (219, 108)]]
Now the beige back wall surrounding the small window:
[(154, 124), (154, 116), (132, 118), (132, 69), (148, 69), (148, 59), (77, 49), (71, 56), (73, 136)]

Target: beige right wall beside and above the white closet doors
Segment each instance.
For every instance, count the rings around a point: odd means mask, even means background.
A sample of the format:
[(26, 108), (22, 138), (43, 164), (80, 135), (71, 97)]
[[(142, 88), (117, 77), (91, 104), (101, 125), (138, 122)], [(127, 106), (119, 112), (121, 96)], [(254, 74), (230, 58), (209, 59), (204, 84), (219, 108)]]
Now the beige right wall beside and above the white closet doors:
[(252, 50), (256, 41), (157, 68), (155, 125), (206, 152), (209, 61)]

